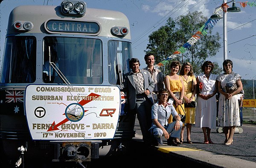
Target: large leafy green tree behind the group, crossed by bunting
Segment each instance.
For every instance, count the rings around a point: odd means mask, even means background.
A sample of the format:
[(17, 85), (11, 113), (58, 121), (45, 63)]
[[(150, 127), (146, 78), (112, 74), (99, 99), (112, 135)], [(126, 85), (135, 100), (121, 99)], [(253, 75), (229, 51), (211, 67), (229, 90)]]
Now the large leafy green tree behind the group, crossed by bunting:
[[(160, 27), (157, 31), (149, 35), (149, 43), (146, 53), (153, 53), (156, 64), (165, 60), (172, 55), (178, 48), (182, 47), (203, 25), (207, 22), (207, 17), (204, 17), (201, 12), (195, 11), (188, 13), (185, 16), (179, 16), (175, 20), (171, 17), (167, 20), (166, 25)], [(192, 47), (185, 53), (178, 55), (176, 58), (169, 61), (164, 67), (160, 67), (165, 75), (169, 73), (169, 64), (173, 60), (178, 60), (181, 63), (190, 62), (193, 66), (195, 74), (201, 73), (201, 65), (208, 57), (215, 56), (220, 43), (218, 32), (212, 35), (209, 30), (204, 36), (201, 36)], [(214, 62), (215, 69), (213, 73), (221, 73), (221, 68)]]

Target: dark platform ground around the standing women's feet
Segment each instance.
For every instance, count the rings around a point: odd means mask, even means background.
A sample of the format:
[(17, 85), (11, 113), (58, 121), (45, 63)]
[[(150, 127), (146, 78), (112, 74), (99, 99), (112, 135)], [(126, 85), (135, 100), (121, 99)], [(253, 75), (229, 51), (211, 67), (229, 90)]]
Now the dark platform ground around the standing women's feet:
[[(218, 127), (217, 127), (218, 128)], [(215, 144), (204, 144), (204, 135), (201, 128), (192, 126), (191, 140), (193, 144), (186, 143), (186, 128), (184, 132), (184, 143), (181, 147), (199, 148), (204, 151), (210, 151), (217, 154), (237, 157), (243, 160), (256, 162), (256, 125), (243, 124), (242, 133), (235, 133), (233, 144), (230, 146), (223, 145), (225, 140), (224, 133), (218, 133), (216, 129), (211, 130), (211, 139)], [(135, 121), (134, 129), (136, 134), (141, 135), (138, 120)], [(167, 144), (166, 140), (163, 140)]]

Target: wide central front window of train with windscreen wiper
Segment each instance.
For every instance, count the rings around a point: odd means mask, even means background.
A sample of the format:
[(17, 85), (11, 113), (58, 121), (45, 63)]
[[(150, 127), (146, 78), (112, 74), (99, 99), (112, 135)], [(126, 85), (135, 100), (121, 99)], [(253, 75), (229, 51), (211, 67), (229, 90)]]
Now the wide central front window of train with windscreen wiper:
[[(45, 83), (101, 84), (102, 42), (99, 39), (44, 38)], [(49, 63), (50, 62), (50, 63)]]

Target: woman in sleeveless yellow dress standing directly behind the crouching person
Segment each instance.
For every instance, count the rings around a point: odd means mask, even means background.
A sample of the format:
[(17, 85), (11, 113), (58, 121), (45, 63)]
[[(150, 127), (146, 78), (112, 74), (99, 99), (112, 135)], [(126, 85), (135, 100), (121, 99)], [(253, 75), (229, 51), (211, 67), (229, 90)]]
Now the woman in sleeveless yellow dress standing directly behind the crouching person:
[[(173, 61), (170, 67), (171, 73), (165, 77), (165, 87), (170, 93), (169, 103), (174, 105), (179, 115), (185, 115), (184, 104), (182, 103), (184, 96), (183, 79), (177, 74), (180, 71), (181, 64), (178, 61)], [(172, 123), (172, 117), (169, 118), (168, 123)], [(183, 140), (183, 137), (181, 138)], [(176, 138), (176, 143), (180, 143), (178, 138)]]

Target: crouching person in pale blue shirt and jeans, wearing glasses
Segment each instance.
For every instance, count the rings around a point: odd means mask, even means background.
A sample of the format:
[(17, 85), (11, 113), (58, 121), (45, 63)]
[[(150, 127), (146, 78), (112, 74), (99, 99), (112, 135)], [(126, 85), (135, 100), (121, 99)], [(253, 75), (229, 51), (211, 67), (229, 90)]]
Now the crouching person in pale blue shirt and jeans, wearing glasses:
[[(167, 145), (179, 146), (176, 138), (180, 138), (183, 124), (180, 121), (180, 116), (174, 106), (167, 102), (169, 97), (169, 91), (167, 89), (160, 89), (157, 96), (158, 102), (151, 109), (153, 123), (150, 132), (157, 139), (158, 143), (156, 145), (163, 144), (161, 137), (164, 136), (167, 139)], [(176, 118), (176, 121), (168, 124), (168, 119), (171, 115)]]

